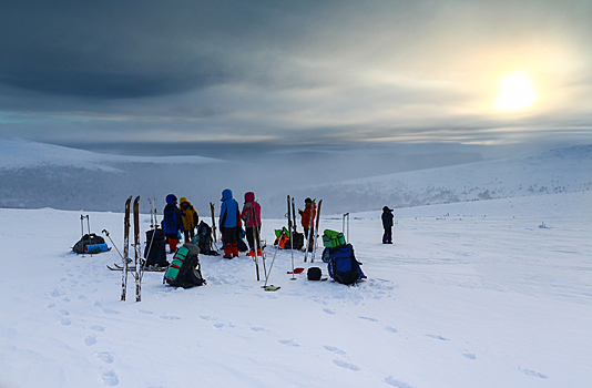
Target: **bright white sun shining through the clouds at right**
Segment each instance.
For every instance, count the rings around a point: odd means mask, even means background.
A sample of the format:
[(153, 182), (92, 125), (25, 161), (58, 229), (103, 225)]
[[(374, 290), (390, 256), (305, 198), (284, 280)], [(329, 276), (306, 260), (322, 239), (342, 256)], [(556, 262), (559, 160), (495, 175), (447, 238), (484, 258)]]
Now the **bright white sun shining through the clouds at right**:
[(494, 108), (511, 111), (532, 105), (537, 101), (537, 92), (531, 78), (524, 73), (506, 75), (500, 82), (500, 94)]

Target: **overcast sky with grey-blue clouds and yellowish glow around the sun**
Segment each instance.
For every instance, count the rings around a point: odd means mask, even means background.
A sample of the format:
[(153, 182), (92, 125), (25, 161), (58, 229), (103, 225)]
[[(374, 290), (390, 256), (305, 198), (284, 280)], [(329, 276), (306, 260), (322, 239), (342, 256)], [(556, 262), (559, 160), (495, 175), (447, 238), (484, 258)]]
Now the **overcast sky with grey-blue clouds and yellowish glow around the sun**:
[(0, 136), (592, 143), (590, 0), (2, 1), (0, 55)]

